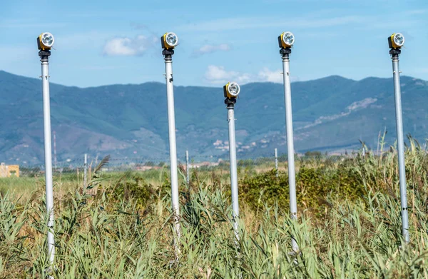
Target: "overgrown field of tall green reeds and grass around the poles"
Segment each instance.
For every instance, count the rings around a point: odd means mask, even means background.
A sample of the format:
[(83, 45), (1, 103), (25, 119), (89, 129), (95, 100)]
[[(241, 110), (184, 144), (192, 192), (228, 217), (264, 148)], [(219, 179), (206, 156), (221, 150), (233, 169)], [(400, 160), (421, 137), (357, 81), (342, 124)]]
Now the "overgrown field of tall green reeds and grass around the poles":
[[(56, 263), (46, 261), (44, 179), (0, 181), (0, 278), (428, 278), (428, 156), (406, 151), (411, 242), (402, 241), (397, 153), (297, 160), (298, 220), (285, 162), (239, 170), (240, 240), (228, 166), (180, 169), (182, 235), (173, 246), (168, 168), (55, 176)], [(290, 237), (300, 253), (290, 253)]]

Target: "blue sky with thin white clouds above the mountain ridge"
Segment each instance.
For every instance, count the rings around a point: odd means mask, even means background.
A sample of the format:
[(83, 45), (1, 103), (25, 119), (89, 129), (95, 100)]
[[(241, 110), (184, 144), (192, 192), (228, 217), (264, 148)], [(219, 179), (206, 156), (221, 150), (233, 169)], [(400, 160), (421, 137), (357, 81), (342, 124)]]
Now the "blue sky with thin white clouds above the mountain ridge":
[[(169, 6), (168, 6), (169, 5)], [(392, 76), (387, 36), (406, 38), (402, 73), (428, 80), (428, 1), (2, 1), (0, 69), (38, 77), (36, 36), (55, 36), (51, 81), (164, 82), (159, 37), (180, 40), (175, 85), (281, 81), (277, 36), (295, 34), (294, 81)]]

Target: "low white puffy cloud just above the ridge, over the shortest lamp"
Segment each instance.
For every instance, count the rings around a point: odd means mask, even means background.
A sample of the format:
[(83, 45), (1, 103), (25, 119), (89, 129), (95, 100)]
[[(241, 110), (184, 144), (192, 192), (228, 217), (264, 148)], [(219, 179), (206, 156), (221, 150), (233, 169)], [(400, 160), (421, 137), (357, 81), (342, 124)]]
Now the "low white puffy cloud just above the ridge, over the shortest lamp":
[[(297, 81), (298, 78), (291, 78), (292, 81)], [(240, 73), (238, 71), (226, 71), (224, 66), (208, 66), (205, 72), (205, 81), (211, 84), (223, 84), (228, 81), (236, 81), (238, 83), (249, 83), (249, 82), (275, 82), (282, 83), (282, 71), (280, 69), (276, 71), (270, 71), (267, 67), (264, 67), (258, 72), (258, 74), (251, 73)]]

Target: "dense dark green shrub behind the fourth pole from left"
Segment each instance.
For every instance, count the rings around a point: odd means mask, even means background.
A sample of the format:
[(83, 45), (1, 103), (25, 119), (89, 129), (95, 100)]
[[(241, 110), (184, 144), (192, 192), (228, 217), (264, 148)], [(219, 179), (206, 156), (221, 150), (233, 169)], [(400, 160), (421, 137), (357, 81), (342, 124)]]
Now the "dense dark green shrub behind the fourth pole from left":
[[(282, 209), (289, 206), (288, 177), (282, 172), (276, 177), (275, 170), (246, 176), (239, 183), (239, 193), (253, 209), (263, 203), (270, 206), (277, 203)], [(363, 193), (364, 184), (360, 175), (346, 163), (339, 164), (337, 168), (302, 166), (296, 176), (297, 201), (303, 208), (319, 211), (324, 208), (327, 197), (349, 198), (352, 201)]]

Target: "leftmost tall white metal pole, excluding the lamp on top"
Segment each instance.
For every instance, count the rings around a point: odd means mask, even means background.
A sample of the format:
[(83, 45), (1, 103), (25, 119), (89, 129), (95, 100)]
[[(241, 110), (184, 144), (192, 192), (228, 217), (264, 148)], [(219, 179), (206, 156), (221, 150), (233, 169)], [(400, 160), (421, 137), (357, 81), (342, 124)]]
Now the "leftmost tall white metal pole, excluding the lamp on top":
[[(50, 53), (49, 53), (50, 54)], [(51, 102), (49, 96), (49, 56), (41, 56), (41, 85), (43, 91), (46, 211), (48, 220), (48, 256), (49, 263), (55, 259), (54, 240), (54, 192), (52, 188), (52, 146), (51, 146)]]

